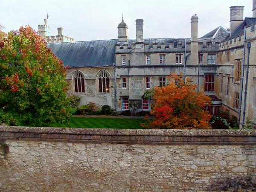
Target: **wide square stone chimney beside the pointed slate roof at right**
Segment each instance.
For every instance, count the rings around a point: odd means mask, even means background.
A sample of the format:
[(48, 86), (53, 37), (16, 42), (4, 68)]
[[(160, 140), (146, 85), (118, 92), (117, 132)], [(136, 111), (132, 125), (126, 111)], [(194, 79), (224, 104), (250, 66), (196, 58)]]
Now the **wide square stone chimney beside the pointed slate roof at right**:
[(244, 21), (244, 6), (230, 7), (230, 35)]

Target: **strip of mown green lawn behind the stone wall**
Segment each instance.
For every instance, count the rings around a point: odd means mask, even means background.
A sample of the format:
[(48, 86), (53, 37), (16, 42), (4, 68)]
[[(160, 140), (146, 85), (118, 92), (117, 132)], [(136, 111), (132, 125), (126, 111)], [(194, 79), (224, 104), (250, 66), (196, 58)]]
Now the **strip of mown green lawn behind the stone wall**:
[(141, 128), (140, 123), (144, 119), (119, 119), (119, 118), (84, 118), (73, 117), (69, 124), (54, 123), (52, 127), (73, 127), (73, 128)]

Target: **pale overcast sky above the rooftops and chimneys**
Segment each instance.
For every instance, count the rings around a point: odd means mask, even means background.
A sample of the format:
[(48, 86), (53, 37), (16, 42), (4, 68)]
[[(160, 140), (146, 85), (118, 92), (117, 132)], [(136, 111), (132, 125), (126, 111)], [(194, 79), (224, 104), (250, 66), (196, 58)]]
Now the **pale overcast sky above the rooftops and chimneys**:
[(63, 27), (75, 41), (116, 39), (123, 13), (129, 38), (136, 38), (136, 19), (144, 20), (144, 38), (190, 38), (192, 15), (201, 37), (229, 28), (230, 6), (244, 6), (244, 17), (252, 17), (252, 0), (0, 0), (0, 24), (5, 32), (25, 25), (37, 30), (48, 12), (51, 35)]

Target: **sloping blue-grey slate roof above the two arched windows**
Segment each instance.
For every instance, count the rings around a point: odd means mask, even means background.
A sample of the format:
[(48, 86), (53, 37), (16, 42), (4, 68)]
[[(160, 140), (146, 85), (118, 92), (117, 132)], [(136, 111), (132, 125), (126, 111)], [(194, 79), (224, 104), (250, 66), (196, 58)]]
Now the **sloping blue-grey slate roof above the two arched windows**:
[(47, 44), (52, 52), (70, 67), (112, 66), (117, 39)]

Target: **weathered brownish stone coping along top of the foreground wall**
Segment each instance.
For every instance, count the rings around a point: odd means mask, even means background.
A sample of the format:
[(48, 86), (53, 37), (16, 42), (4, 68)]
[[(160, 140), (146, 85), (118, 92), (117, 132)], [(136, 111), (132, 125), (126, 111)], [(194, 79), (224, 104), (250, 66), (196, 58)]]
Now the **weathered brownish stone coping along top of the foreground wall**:
[(160, 145), (251, 145), (256, 130), (92, 129), (0, 126), (0, 140)]

